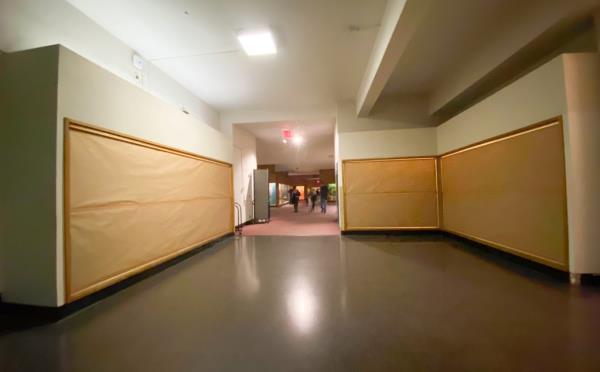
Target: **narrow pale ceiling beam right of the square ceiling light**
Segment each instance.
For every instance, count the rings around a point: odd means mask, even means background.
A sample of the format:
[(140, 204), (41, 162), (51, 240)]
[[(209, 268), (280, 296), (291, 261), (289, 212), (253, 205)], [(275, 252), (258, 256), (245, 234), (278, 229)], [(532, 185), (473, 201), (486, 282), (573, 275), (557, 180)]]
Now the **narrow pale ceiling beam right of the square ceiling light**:
[(373, 109), (430, 2), (430, 0), (388, 0), (356, 98), (356, 111), (359, 117), (368, 116)]

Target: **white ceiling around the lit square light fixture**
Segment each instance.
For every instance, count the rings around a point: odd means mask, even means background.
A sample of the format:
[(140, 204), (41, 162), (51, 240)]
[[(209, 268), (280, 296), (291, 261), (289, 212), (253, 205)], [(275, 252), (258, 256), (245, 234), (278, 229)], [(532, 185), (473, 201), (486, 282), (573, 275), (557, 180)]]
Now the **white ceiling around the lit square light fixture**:
[[(219, 110), (353, 98), (385, 7), (385, 0), (69, 2)], [(236, 30), (265, 26), (275, 32), (277, 55), (239, 51)]]

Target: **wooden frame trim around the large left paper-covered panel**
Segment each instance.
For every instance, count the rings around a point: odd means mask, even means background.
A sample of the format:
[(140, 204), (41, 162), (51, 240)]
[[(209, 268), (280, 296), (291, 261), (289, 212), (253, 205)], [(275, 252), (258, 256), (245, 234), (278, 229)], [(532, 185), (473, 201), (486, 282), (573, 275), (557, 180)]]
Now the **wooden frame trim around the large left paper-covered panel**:
[[(219, 233), (215, 236), (211, 236), (201, 242), (194, 243), (190, 246), (184, 247), (175, 252), (167, 253), (164, 256), (155, 258), (152, 261), (146, 262), (142, 265), (127, 269), (127, 270), (125, 270), (119, 274), (113, 275), (111, 277), (104, 278), (104, 279), (100, 280), (99, 282), (92, 284), (89, 287), (86, 287), (82, 290), (71, 293), (71, 265), (72, 265), (71, 253), (72, 253), (72, 251), (71, 251), (71, 234), (70, 234), (70, 230), (71, 230), (71, 225), (70, 225), (70, 209), (71, 209), (70, 208), (71, 207), (70, 158), (71, 158), (71, 151), (70, 151), (70, 139), (69, 139), (69, 133), (70, 133), (69, 131), (70, 130), (89, 133), (92, 135), (97, 135), (97, 136), (109, 138), (112, 140), (132, 144), (132, 145), (146, 147), (146, 148), (157, 150), (157, 151), (163, 151), (166, 153), (179, 155), (179, 156), (183, 156), (183, 157), (187, 157), (187, 158), (192, 158), (195, 160), (206, 161), (206, 162), (210, 162), (210, 163), (213, 163), (216, 165), (230, 168), (231, 194), (229, 197), (231, 198), (231, 214), (230, 214), (230, 216), (231, 216), (230, 224), (232, 226), (231, 230), (230, 231), (228, 230), (223, 233)], [(166, 261), (169, 261), (169, 260), (171, 260), (175, 257), (178, 257), (184, 253), (187, 253), (197, 247), (208, 244), (212, 241), (220, 239), (220, 238), (227, 236), (227, 235), (231, 234), (232, 232), (234, 232), (235, 231), (235, 221), (234, 221), (235, 216), (234, 216), (233, 191), (234, 191), (233, 190), (233, 166), (230, 163), (223, 162), (220, 160), (215, 160), (215, 159), (208, 158), (208, 157), (198, 155), (198, 154), (194, 154), (194, 153), (191, 153), (188, 151), (179, 150), (179, 149), (176, 149), (173, 147), (164, 146), (164, 145), (161, 145), (161, 144), (158, 144), (155, 142), (146, 141), (144, 139), (129, 136), (129, 135), (122, 134), (119, 132), (103, 129), (98, 126), (89, 125), (89, 124), (86, 124), (86, 123), (83, 123), (80, 121), (76, 121), (76, 120), (72, 120), (69, 118), (64, 118), (64, 125), (63, 125), (63, 238), (64, 238), (63, 254), (64, 254), (64, 257), (63, 257), (63, 262), (64, 262), (64, 278), (65, 278), (65, 280), (64, 280), (65, 303), (71, 303), (75, 300), (78, 300), (82, 297), (92, 294), (100, 289), (106, 288), (112, 284), (118, 283), (122, 280), (125, 280), (125, 279), (131, 277), (131, 276), (134, 276), (143, 271), (146, 271), (152, 267), (158, 266)]]

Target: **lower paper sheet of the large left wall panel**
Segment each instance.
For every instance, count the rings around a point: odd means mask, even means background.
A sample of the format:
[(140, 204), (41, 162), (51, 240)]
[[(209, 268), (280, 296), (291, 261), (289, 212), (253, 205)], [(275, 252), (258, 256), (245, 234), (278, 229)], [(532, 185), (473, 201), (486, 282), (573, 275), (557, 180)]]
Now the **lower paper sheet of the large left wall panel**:
[(230, 203), (199, 199), (71, 214), (72, 292), (222, 235)]

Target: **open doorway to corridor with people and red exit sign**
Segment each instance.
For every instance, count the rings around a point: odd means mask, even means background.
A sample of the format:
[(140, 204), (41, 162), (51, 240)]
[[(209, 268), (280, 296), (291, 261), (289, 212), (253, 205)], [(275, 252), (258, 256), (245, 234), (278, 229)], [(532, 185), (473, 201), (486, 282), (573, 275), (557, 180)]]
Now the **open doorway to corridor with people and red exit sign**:
[[(335, 121), (286, 121), (237, 126), (255, 136), (257, 168), (269, 171), (266, 187), (269, 222), (246, 225), (243, 234), (339, 235), (334, 164)], [(294, 211), (292, 192), (299, 194), (297, 212)], [(323, 211), (321, 195), (325, 198)]]

